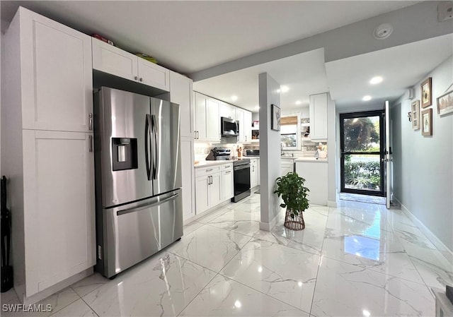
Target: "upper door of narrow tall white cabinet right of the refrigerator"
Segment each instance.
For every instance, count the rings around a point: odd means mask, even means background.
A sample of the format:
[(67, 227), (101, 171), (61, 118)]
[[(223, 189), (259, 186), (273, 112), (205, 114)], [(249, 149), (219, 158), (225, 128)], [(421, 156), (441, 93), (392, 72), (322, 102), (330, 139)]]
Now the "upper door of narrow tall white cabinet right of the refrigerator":
[(181, 137), (193, 137), (192, 85), (192, 79), (170, 72), (170, 101), (179, 104)]

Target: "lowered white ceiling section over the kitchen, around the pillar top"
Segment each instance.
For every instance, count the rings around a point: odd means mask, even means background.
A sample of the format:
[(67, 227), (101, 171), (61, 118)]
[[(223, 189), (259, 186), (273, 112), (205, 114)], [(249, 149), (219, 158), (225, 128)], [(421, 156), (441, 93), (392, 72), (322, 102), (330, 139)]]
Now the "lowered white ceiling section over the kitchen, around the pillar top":
[[(298, 54), (193, 83), (194, 90), (258, 112), (258, 74), (268, 73), (289, 90), (280, 95), (283, 112), (309, 106), (309, 95), (328, 91), (324, 50)], [(236, 95), (234, 102), (231, 96)], [(296, 101), (302, 102), (296, 104)]]

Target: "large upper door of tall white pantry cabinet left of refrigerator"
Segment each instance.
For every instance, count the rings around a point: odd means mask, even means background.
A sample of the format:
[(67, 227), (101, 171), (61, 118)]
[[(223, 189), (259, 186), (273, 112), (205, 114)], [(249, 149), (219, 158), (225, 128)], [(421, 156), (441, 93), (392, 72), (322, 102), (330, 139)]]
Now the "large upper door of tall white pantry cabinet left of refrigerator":
[(19, 12), (23, 128), (87, 132), (91, 37), (25, 8)]

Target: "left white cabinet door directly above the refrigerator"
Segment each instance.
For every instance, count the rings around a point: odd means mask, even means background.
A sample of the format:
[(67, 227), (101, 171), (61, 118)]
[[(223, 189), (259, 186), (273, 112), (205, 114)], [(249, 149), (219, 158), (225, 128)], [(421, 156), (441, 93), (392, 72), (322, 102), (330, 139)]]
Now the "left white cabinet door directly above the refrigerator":
[(138, 57), (96, 38), (93, 42), (93, 68), (112, 75), (138, 80)]

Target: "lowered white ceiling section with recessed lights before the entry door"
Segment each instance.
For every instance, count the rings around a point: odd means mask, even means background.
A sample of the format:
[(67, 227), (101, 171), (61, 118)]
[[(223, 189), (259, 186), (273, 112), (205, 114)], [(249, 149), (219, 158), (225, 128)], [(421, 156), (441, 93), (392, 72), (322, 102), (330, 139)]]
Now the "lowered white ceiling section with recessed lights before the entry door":
[[(326, 63), (331, 97), (339, 109), (360, 109), (367, 103), (384, 105), (385, 100), (401, 97), (452, 53), (453, 35), (449, 34), (331, 61)], [(369, 80), (374, 76), (384, 80), (372, 85)], [(365, 95), (372, 100), (362, 101)]]

